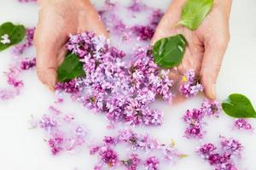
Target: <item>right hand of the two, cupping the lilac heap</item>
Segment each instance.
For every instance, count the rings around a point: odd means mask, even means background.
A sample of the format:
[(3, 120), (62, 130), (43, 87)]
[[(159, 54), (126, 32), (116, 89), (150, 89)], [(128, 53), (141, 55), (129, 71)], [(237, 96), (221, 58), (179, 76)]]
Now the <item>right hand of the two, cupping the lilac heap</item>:
[(157, 27), (152, 42), (170, 37), (177, 33), (186, 37), (189, 45), (186, 48), (182, 64), (177, 67), (180, 74), (195, 69), (200, 76), (209, 99), (216, 98), (215, 84), (224, 53), (230, 40), (229, 19), (231, 0), (215, 0), (212, 11), (201, 26), (190, 31), (183, 26), (176, 26), (180, 20), (183, 4), (186, 0), (174, 0)]

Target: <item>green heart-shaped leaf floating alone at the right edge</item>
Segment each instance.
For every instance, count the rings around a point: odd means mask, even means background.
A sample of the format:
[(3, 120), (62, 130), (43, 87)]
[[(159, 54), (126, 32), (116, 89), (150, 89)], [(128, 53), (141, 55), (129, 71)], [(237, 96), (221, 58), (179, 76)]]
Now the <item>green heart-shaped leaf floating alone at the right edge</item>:
[(242, 94), (230, 94), (229, 99), (222, 103), (224, 112), (236, 118), (256, 118), (256, 111), (246, 96)]

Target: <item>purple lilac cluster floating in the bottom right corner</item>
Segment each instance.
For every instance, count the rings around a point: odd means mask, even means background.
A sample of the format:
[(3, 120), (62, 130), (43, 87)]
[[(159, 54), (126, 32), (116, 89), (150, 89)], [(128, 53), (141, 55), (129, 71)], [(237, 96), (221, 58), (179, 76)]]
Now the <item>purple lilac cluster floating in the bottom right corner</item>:
[(243, 146), (236, 139), (220, 137), (220, 147), (214, 144), (201, 145), (198, 153), (209, 162), (215, 170), (238, 170), (235, 159), (241, 157)]

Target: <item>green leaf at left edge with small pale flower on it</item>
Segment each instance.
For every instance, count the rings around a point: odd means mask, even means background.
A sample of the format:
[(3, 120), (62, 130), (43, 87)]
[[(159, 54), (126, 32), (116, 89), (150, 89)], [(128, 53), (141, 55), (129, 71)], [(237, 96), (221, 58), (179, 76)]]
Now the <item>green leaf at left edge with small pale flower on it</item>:
[(0, 51), (3, 51), (4, 49), (21, 42), (26, 36), (26, 28), (22, 25), (15, 26), (11, 22), (6, 22), (0, 26), (0, 39), (2, 39), (1, 37), (4, 34), (9, 36), (10, 43), (3, 44), (0, 42)]

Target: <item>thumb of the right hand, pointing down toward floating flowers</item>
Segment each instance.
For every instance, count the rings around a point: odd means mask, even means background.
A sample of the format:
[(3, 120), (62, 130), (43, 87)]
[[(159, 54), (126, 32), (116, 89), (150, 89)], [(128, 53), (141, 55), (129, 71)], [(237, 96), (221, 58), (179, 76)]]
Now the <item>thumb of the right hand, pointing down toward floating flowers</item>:
[(228, 40), (224, 39), (222, 42), (210, 42), (206, 45), (201, 65), (201, 83), (209, 99), (216, 99), (215, 85), (227, 44)]

